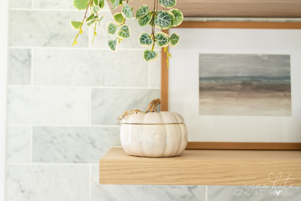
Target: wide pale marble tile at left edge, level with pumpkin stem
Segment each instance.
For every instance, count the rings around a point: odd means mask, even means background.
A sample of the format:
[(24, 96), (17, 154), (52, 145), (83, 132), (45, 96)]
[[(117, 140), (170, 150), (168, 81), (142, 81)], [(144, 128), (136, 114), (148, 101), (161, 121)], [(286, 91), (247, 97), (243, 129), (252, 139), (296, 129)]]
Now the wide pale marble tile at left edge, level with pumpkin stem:
[(88, 88), (8, 88), (8, 124), (86, 125)]

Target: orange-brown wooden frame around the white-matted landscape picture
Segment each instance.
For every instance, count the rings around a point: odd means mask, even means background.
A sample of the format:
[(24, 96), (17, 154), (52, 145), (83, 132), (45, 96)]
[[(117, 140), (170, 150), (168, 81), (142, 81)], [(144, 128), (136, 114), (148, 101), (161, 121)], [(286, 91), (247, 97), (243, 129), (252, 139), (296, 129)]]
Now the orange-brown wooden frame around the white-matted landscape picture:
[[(178, 28), (230, 28), (230, 29), (301, 29), (301, 22), (182, 22)], [(175, 28), (172, 28), (175, 29)], [(168, 30), (166, 30), (168, 31)], [(161, 110), (168, 111), (168, 68), (166, 53), (161, 50)], [(300, 134), (301, 135), (301, 134)], [(301, 150), (301, 143), (267, 142), (188, 142), (186, 149), (234, 150)]]

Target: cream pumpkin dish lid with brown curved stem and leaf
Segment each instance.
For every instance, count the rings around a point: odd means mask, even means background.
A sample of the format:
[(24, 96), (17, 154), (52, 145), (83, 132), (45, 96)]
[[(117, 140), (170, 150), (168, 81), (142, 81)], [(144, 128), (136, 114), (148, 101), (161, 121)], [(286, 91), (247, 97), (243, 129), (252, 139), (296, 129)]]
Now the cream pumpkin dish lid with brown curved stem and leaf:
[(184, 123), (183, 117), (176, 112), (157, 111), (161, 103), (159, 98), (152, 100), (145, 112), (141, 110), (127, 110), (117, 118), (119, 123), (127, 124), (178, 124)]

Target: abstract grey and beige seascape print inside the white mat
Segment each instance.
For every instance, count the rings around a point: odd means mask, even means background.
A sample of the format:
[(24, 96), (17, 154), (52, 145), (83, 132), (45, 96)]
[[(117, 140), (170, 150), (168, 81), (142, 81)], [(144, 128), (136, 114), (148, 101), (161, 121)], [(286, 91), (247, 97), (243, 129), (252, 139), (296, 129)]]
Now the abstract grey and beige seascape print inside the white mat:
[(199, 115), (291, 116), (290, 55), (199, 54)]

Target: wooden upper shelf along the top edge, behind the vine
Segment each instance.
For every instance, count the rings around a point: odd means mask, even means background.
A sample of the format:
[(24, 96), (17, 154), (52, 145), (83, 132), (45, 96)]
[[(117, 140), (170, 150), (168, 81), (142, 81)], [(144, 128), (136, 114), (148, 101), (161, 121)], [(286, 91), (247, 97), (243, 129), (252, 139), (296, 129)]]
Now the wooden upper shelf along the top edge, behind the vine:
[[(110, 1), (108, 4), (112, 8)], [(144, 4), (153, 8), (154, 0), (129, 1), (131, 7), (135, 5), (134, 13)], [(301, 17), (300, 0), (178, 0), (174, 8), (184, 17)], [(158, 10), (162, 10), (160, 5)]]

